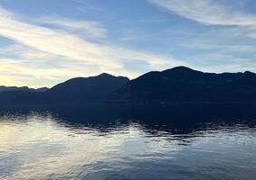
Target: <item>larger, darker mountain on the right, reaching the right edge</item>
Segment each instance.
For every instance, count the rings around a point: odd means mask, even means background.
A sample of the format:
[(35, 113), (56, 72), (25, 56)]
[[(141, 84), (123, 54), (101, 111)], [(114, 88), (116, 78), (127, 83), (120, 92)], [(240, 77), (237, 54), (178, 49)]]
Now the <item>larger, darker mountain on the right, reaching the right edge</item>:
[(256, 103), (256, 74), (204, 73), (188, 67), (149, 72), (113, 94), (112, 103)]

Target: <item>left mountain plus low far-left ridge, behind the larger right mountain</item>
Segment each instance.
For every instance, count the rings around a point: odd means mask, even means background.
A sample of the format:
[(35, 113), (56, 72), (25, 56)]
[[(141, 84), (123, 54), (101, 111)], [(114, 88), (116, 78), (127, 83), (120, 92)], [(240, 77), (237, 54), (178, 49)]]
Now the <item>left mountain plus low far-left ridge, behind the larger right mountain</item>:
[[(128, 83), (128, 77), (100, 76), (76, 77), (51, 89), (4, 91), (0, 93), (2, 104), (54, 104), (54, 103), (100, 103), (107, 95)], [(29, 88), (28, 88), (29, 89)]]

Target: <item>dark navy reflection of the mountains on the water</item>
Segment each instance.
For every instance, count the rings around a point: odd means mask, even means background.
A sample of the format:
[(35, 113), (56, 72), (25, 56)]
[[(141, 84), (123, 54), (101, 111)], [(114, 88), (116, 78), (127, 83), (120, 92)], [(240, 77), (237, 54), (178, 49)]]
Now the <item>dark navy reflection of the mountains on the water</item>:
[(137, 124), (147, 131), (164, 130), (170, 133), (190, 133), (209, 127), (253, 124), (256, 120), (253, 104), (174, 104), (159, 106), (130, 106), (111, 104), (85, 104), (40, 108), (8, 109), (0, 111), (3, 117), (24, 117), (37, 114), (67, 127), (81, 127), (111, 131)]

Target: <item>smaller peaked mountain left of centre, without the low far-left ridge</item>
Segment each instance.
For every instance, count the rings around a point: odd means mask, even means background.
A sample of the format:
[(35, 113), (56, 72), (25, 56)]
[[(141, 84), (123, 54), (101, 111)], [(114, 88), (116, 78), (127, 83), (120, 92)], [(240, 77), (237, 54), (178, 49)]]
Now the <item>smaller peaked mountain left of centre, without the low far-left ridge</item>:
[(128, 77), (111, 76), (106, 73), (99, 76), (77, 77), (53, 86), (44, 95), (50, 102), (98, 103), (104, 102), (110, 93), (128, 81)]

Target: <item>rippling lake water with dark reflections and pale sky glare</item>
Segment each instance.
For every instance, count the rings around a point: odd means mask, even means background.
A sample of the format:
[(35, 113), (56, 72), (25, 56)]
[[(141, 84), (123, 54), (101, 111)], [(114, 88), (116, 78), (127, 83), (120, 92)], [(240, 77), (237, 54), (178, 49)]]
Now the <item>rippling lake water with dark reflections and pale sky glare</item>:
[(0, 179), (255, 179), (250, 108), (2, 110)]

